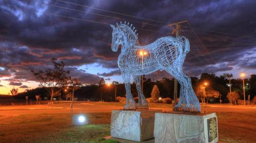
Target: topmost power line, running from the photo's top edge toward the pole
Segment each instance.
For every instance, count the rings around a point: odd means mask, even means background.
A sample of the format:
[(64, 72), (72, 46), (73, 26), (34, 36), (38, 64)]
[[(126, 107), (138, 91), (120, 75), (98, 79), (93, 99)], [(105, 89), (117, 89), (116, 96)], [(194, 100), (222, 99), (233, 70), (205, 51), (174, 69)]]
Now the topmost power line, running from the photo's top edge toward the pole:
[(105, 12), (110, 12), (110, 13), (114, 13), (114, 14), (120, 14), (120, 15), (124, 15), (124, 16), (130, 16), (130, 17), (134, 17), (134, 18), (139, 18), (139, 19), (144, 19), (144, 20), (155, 21), (155, 22), (167, 24), (166, 22), (163, 22), (163, 21), (158, 21), (158, 20), (153, 20), (153, 19), (148, 19), (148, 18), (133, 16), (133, 15), (128, 15), (128, 14), (122, 14), (122, 13), (118, 13), (118, 12), (113, 12), (113, 11), (109, 11), (109, 10), (103, 10), (103, 9), (93, 8), (93, 7), (84, 6), (84, 5), (79, 5), (79, 4), (70, 3), (70, 2), (61, 1), (61, 0), (56, 0), (56, 1), (62, 2), (62, 3), (68, 3), (68, 4), (72, 4), (72, 5), (77, 5), (77, 6), (81, 6), (81, 7), (91, 8), (91, 9), (95, 9), (95, 10), (99, 10), (99, 11), (105, 11)]

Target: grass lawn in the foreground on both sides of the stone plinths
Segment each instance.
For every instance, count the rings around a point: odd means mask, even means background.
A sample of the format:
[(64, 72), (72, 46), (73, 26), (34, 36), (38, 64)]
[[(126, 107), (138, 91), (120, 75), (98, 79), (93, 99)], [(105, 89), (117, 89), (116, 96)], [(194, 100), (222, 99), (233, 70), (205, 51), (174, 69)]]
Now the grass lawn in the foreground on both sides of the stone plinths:
[[(0, 142), (115, 142), (110, 135), (111, 113), (87, 113), (88, 125), (74, 126), (69, 114), (0, 116)], [(256, 113), (217, 112), (223, 142), (255, 142)]]

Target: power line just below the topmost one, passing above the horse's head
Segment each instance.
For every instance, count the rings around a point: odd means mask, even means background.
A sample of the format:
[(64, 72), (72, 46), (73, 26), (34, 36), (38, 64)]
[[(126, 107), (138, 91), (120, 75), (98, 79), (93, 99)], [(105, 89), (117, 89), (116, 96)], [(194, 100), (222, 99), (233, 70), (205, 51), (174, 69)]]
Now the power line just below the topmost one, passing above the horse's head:
[(107, 16), (107, 15), (102, 15), (102, 14), (86, 12), (86, 11), (80, 11), (80, 10), (76, 10), (76, 9), (70, 9), (70, 8), (65, 8), (65, 7), (55, 6), (55, 5), (49, 5), (49, 6), (62, 8), (62, 9), (67, 9), (67, 10), (72, 10), (72, 11), (83, 12), (83, 13), (88, 13), (88, 14), (92, 14), (92, 15), (104, 16), (104, 17), (109, 17), (109, 18), (114, 18), (114, 19), (119, 19), (119, 20), (131, 21), (131, 22), (135, 22), (135, 23), (141, 23), (141, 24), (147, 24), (147, 25), (162, 27), (162, 26), (156, 25), (156, 24), (150, 24), (150, 23), (139, 22), (139, 21), (134, 21), (134, 20), (129, 20), (129, 19), (123, 19), (123, 18), (118, 18), (118, 17), (113, 17), (113, 16)]

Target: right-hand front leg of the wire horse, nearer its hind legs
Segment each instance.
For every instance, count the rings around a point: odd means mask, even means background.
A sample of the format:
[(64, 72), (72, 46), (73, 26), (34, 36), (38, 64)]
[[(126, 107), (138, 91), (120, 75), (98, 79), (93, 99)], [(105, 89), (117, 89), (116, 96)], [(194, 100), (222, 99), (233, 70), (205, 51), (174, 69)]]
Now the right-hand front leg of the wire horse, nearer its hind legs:
[(148, 109), (148, 104), (146, 102), (146, 98), (143, 95), (142, 90), (141, 90), (141, 84), (140, 84), (141, 76), (136, 75), (133, 78), (136, 83), (136, 89), (138, 91), (138, 97), (139, 97), (139, 103), (138, 103), (137, 109)]

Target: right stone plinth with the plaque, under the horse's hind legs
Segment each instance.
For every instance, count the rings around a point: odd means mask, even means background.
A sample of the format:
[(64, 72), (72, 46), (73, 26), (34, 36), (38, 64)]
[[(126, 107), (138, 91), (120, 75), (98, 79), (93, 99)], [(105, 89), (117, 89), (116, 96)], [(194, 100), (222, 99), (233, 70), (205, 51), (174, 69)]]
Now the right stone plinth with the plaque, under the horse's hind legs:
[(216, 113), (156, 113), (154, 137), (155, 143), (216, 143), (219, 137)]

